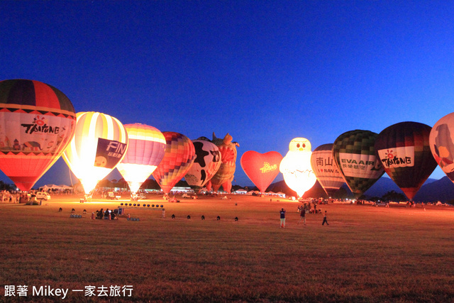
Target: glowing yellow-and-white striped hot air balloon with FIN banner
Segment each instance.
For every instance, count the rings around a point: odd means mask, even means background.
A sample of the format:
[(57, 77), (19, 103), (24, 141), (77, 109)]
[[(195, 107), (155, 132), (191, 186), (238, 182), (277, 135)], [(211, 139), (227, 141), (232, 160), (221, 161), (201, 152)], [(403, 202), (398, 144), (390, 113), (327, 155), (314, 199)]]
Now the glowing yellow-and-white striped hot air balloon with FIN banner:
[(62, 157), (86, 194), (123, 159), (128, 133), (118, 119), (93, 111), (77, 113), (76, 133)]

